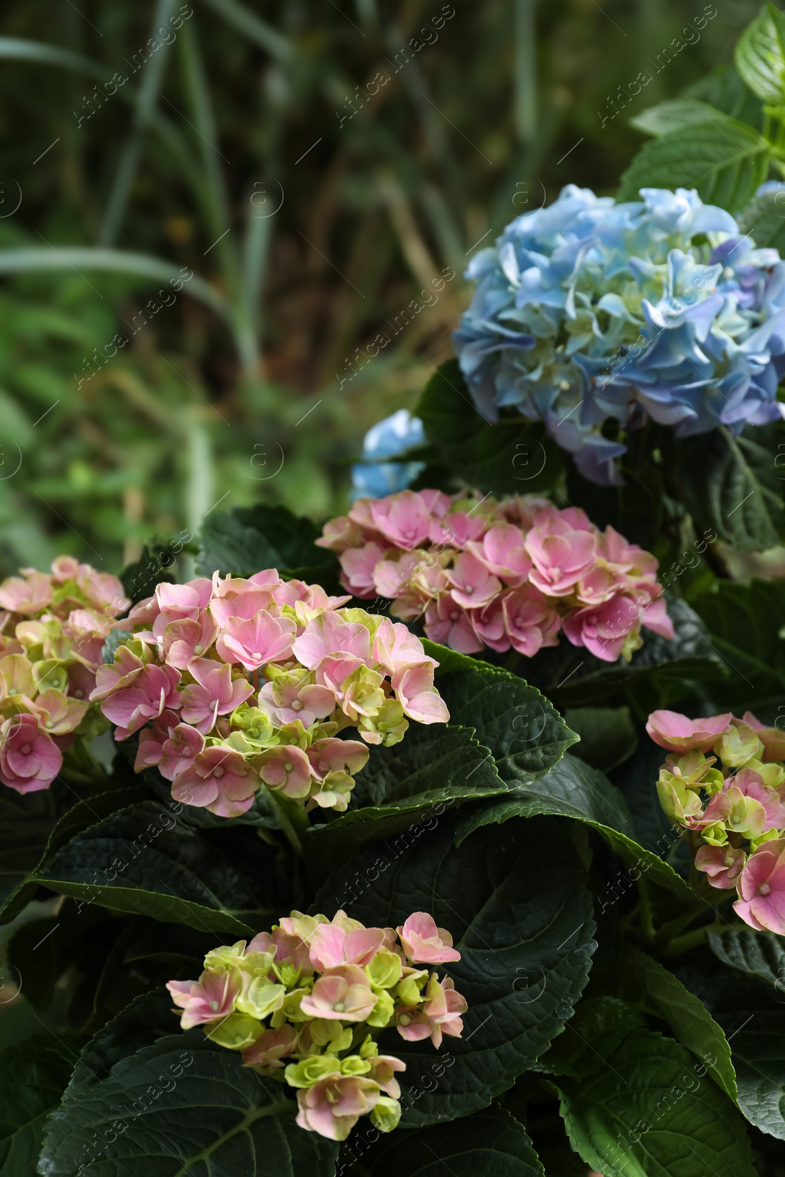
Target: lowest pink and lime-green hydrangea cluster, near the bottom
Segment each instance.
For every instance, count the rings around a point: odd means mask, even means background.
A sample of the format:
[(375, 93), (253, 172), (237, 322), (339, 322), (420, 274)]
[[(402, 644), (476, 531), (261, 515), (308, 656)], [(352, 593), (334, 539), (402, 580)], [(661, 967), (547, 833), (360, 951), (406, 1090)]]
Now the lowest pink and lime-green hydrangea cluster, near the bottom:
[(379, 1053), (385, 1026), (437, 1050), (443, 1035), (460, 1038), (466, 1000), (433, 967), (451, 960), (452, 936), (424, 911), (398, 929), (293, 911), (250, 944), (208, 952), (198, 982), (167, 989), (184, 1030), (204, 1025), (242, 1051), (244, 1066), (295, 1088), (300, 1128), (344, 1141), (360, 1116), (382, 1132), (400, 1119), (406, 1064)]

